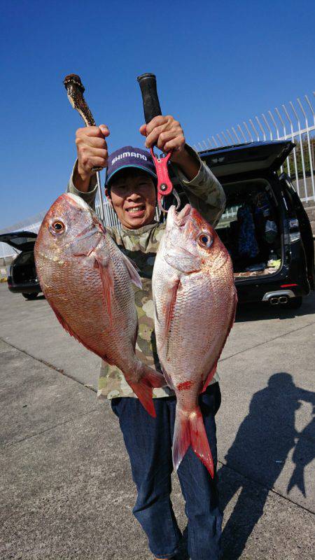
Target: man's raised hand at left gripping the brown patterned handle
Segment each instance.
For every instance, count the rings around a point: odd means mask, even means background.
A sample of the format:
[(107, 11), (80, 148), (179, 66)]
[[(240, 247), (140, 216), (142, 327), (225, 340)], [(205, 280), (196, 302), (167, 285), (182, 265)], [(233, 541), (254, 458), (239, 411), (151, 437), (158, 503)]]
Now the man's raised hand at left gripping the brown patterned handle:
[(83, 193), (86, 193), (89, 188), (90, 179), (94, 175), (93, 167), (107, 167), (109, 153), (106, 137), (108, 136), (109, 129), (106, 125), (78, 128), (76, 131), (78, 165), (73, 174), (73, 184)]

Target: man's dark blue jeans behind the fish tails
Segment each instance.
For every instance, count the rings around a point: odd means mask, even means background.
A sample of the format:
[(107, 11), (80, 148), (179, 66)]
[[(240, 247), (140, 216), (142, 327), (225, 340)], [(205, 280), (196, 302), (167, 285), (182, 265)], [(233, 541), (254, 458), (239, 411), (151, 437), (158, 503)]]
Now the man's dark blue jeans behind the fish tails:
[[(200, 395), (200, 408), (215, 468), (214, 416), (220, 404), (218, 383), (210, 385)], [(151, 552), (157, 558), (172, 558), (181, 540), (170, 500), (176, 398), (155, 398), (156, 418), (149, 416), (137, 398), (114, 398), (111, 405), (119, 419), (130, 456), (132, 478), (137, 485), (134, 516), (148, 536)], [(212, 480), (207, 468), (189, 448), (177, 474), (186, 502), (190, 559), (218, 560), (221, 558), (222, 514), (218, 504), (216, 470)]]

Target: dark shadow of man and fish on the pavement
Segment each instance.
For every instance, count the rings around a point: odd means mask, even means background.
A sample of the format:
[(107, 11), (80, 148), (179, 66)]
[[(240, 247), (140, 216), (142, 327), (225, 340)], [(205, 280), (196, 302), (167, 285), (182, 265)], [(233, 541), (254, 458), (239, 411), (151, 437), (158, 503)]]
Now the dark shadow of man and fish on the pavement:
[(262, 516), (268, 491), (293, 447), (295, 470), (287, 491), (297, 486), (307, 495), (304, 468), (314, 458), (314, 443), (310, 438), (313, 430), (314, 439), (314, 421), (301, 433), (295, 430), (295, 411), (300, 401), (315, 405), (315, 393), (296, 387), (292, 376), (285, 372), (273, 374), (268, 386), (253, 395), (249, 413), (225, 456), (226, 465), (219, 471), (222, 510), (240, 491), (223, 531), (224, 560), (237, 560), (241, 556)]

